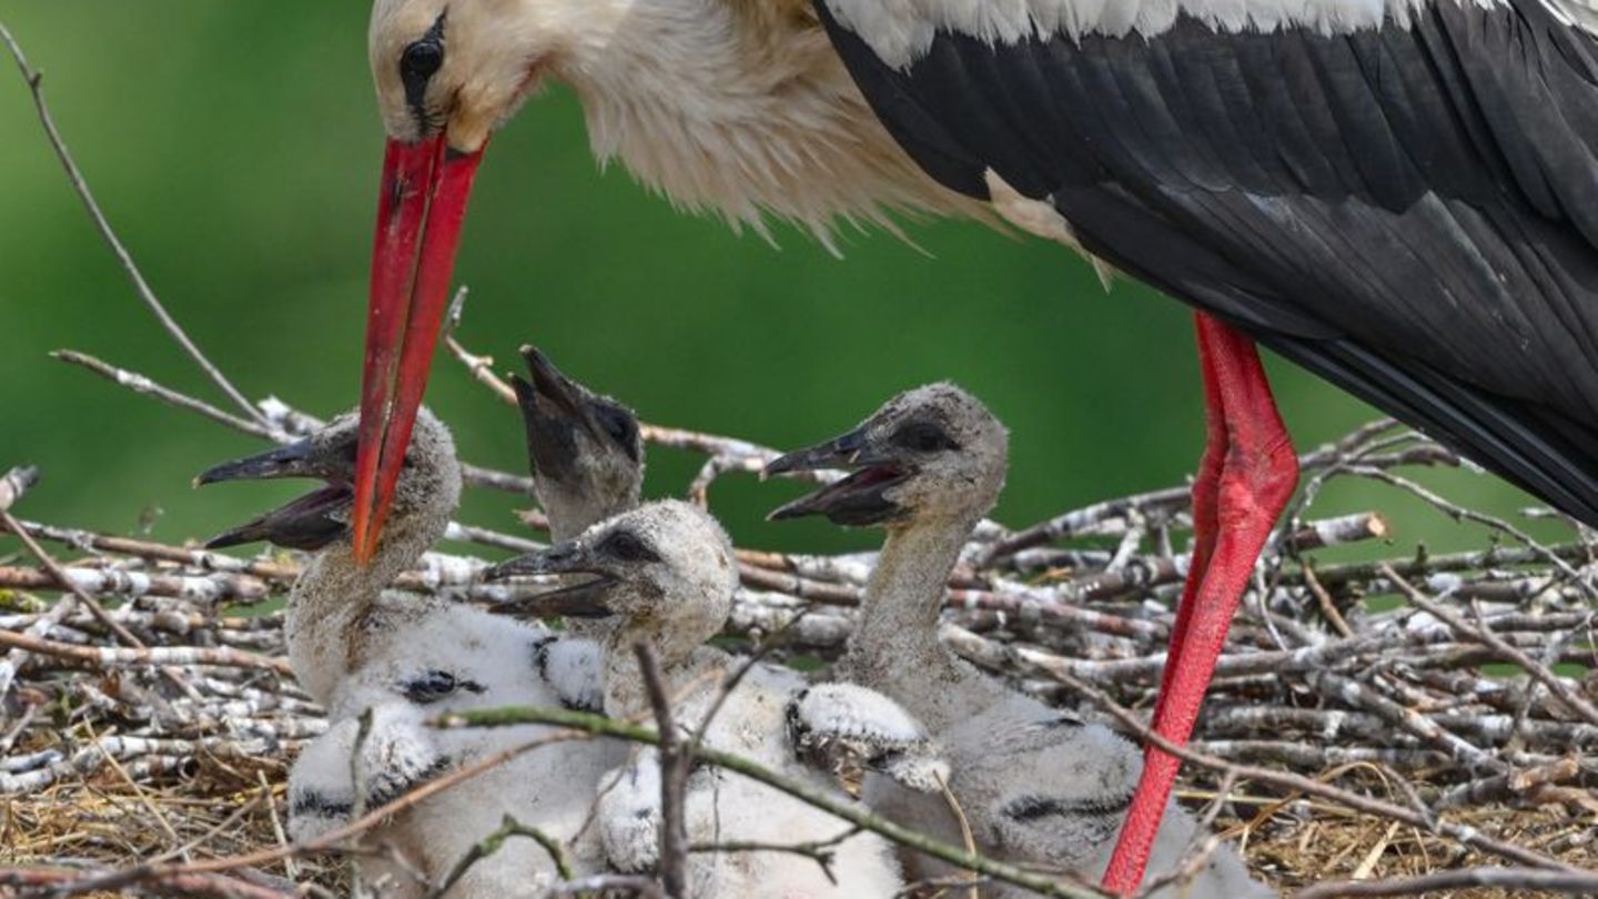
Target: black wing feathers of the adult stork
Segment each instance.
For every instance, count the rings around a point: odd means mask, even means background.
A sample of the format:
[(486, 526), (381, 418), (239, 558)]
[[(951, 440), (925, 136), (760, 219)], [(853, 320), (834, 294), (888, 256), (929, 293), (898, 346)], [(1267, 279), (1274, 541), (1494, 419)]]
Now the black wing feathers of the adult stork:
[(1598, 525), (1598, 40), (1537, 0), (1328, 35), (941, 32), (884, 64), (946, 186), (996, 171), (1083, 248)]

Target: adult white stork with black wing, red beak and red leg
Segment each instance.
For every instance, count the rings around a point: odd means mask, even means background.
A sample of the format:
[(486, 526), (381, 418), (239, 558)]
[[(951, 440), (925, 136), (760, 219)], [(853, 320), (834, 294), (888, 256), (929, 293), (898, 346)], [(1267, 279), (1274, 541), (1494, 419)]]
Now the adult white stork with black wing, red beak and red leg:
[[(682, 205), (823, 235), (997, 210), (1198, 310), (1173, 741), (1298, 475), (1256, 342), (1598, 525), (1593, 0), (377, 0), (371, 59), (363, 552), (471, 176), (547, 78)], [(1141, 880), (1175, 773), (1149, 753), (1107, 886)]]

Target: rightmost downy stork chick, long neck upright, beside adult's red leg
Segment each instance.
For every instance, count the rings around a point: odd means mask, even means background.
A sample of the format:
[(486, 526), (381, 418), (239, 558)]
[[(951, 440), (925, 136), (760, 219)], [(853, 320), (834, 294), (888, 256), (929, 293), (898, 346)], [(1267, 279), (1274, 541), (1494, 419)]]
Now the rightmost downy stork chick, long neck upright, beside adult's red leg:
[[(970, 394), (952, 384), (909, 390), (855, 430), (767, 465), (767, 473), (855, 470), (772, 518), (826, 515), (887, 529), (837, 677), (896, 699), (943, 744), (949, 789), (984, 853), (1098, 877), (1138, 784), (1138, 749), (1010, 689), (938, 641), (944, 585), (999, 497), (1007, 448), (1004, 426)], [(903, 824), (959, 840), (957, 821), (935, 797), (882, 777), (868, 777), (865, 795)], [(1155, 864), (1173, 864), (1194, 830), (1192, 819), (1173, 809)], [(906, 859), (906, 867), (912, 878), (944, 873), (925, 857)], [(1222, 851), (1192, 885), (1162, 894), (1232, 899), (1269, 891)]]

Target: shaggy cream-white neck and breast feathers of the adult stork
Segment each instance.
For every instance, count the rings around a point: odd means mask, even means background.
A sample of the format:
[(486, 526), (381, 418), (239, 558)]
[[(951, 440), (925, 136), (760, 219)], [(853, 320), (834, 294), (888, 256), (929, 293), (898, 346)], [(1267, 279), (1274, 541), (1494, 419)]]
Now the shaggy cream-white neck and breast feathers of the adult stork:
[(892, 230), (890, 210), (980, 214), (900, 150), (793, 3), (631, 0), (553, 72), (582, 98), (601, 160), (735, 229), (767, 235), (775, 214), (831, 248), (839, 221)]

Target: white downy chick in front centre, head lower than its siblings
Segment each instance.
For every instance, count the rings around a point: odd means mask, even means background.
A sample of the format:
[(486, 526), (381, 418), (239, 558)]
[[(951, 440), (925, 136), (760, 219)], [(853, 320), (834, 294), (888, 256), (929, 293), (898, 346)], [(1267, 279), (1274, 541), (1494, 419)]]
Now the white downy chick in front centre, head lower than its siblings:
[[(559, 574), (582, 582), (543, 597), (542, 611), (614, 614), (602, 641), (604, 707), (612, 717), (647, 715), (644, 675), (634, 643), (660, 661), (678, 725), (705, 729), (705, 744), (756, 760), (789, 777), (847, 797), (823, 773), (805, 766), (786, 733), (789, 707), (805, 683), (775, 665), (754, 665), (706, 721), (719, 685), (738, 662), (705, 646), (725, 624), (737, 589), (732, 542), (697, 505), (663, 501), (596, 525), (575, 541), (500, 565), (491, 576)], [(531, 606), (529, 606), (531, 608)], [(610, 862), (626, 872), (658, 861), (660, 765), (639, 753), (601, 787), (599, 821)], [(687, 784), (686, 825), (692, 843), (729, 840), (793, 845), (833, 840), (849, 825), (754, 781), (714, 769)], [(887, 845), (869, 833), (841, 841), (833, 881), (815, 861), (789, 853), (692, 853), (692, 896), (893, 896), (898, 869)]]

